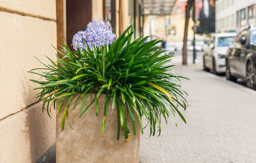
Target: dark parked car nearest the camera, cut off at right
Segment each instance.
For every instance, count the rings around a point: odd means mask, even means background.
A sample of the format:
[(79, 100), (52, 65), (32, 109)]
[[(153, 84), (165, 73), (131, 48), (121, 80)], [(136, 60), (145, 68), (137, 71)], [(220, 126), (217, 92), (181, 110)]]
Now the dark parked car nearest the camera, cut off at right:
[(256, 26), (240, 30), (227, 50), (226, 78), (236, 82), (244, 79), (248, 88), (256, 88)]

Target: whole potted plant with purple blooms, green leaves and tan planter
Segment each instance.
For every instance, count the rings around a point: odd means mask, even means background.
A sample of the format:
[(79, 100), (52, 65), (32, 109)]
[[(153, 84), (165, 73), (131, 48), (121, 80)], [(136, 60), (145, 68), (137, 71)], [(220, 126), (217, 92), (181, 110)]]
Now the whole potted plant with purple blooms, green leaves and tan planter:
[(74, 35), (75, 51), (63, 43), (56, 62), (29, 71), (45, 79), (31, 79), (43, 111), (57, 111), (57, 162), (139, 162), (143, 116), (150, 136), (160, 135), (161, 117), (175, 122), (177, 113), (186, 123), (177, 109), (186, 109), (186, 77), (173, 71), (160, 41), (132, 35), (129, 26), (115, 40), (109, 23), (94, 20)]

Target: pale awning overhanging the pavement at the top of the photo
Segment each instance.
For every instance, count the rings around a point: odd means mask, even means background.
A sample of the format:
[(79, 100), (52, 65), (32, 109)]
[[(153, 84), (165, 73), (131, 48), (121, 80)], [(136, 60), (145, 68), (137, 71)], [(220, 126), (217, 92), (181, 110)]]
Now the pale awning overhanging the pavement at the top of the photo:
[(177, 0), (141, 0), (143, 15), (169, 15)]

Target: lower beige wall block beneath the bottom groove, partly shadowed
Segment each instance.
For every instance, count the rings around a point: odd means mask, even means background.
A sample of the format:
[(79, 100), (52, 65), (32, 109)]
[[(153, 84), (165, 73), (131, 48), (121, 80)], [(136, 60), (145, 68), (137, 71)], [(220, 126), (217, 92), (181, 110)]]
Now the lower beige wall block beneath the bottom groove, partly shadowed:
[(0, 162), (35, 163), (55, 143), (55, 111), (42, 113), (42, 103), (0, 121)]

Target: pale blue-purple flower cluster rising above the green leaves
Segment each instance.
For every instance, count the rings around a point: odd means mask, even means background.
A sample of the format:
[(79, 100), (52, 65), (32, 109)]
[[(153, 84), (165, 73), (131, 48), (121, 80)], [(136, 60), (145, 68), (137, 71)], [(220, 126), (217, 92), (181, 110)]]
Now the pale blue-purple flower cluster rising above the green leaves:
[[(79, 42), (79, 45), (77, 43)], [(87, 42), (90, 49), (93, 46), (105, 46), (115, 41), (115, 33), (112, 32), (111, 24), (105, 23), (102, 18), (89, 22), (85, 31), (79, 31), (73, 37), (72, 43), (74, 50), (77, 48), (86, 48), (84, 41)]]

